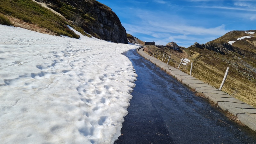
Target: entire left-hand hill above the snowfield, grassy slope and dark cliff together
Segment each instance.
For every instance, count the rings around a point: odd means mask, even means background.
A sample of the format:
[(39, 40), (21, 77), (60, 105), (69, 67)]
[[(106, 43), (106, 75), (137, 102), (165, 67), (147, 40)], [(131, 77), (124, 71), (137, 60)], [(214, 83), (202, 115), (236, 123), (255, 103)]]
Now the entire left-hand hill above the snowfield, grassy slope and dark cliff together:
[(0, 14), (1, 19), (11, 21), (13, 26), (37, 32), (79, 38), (67, 27), (70, 25), (89, 37), (128, 43), (126, 30), (116, 13), (96, 0), (3, 1)]

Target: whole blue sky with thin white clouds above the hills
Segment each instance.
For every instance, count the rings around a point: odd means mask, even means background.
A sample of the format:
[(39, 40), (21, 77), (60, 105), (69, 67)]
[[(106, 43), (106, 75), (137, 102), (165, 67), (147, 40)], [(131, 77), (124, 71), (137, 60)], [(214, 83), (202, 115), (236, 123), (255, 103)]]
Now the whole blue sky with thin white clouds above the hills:
[(189, 47), (232, 30), (256, 29), (256, 0), (98, 0), (142, 41)]

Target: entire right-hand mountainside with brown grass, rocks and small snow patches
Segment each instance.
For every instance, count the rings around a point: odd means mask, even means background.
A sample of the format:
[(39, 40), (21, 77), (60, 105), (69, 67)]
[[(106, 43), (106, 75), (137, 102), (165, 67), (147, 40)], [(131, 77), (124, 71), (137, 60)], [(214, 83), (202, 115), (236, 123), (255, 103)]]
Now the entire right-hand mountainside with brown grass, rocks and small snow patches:
[[(182, 58), (189, 59), (190, 63), (181, 65), (180, 70), (189, 74), (191, 62), (193, 62), (192, 76), (217, 89), (229, 67), (228, 77), (222, 90), (256, 107), (255, 32), (256, 30), (231, 31), (206, 44), (196, 42), (188, 48), (180, 48), (179, 51), (148, 45), (144, 50), (150, 55), (154, 54), (160, 60), (163, 53), (165, 56), (171, 54), (169, 65), (175, 68), (178, 67)], [(244, 36), (250, 36), (250, 38)], [(236, 42), (230, 44), (230, 41)]]

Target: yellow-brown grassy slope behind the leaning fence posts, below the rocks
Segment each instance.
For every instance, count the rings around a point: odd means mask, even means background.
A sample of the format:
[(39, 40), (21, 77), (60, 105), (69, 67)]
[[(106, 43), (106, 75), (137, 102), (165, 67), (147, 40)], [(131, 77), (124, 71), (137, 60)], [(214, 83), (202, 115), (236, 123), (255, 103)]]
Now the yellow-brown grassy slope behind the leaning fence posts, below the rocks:
[[(169, 65), (175, 68), (178, 67), (182, 58), (188, 58), (193, 62), (192, 76), (217, 89), (219, 89), (225, 71), (229, 67), (228, 78), (222, 91), (256, 107), (256, 73), (252, 71), (256, 67), (246, 62), (252, 60), (251, 63), (255, 64), (256, 60), (254, 58), (248, 55), (245, 55), (243, 58), (243, 55), (236, 52), (222, 55), (218, 52), (196, 47), (180, 48), (179, 51), (166, 47), (162, 49), (156, 46), (147, 45), (147, 47), (145, 52), (151, 55), (154, 54), (154, 57), (158, 53), (157, 58), (159, 60), (162, 60), (163, 53), (165, 52), (164, 59), (167, 56), (165, 63), (167, 63), (168, 57), (171, 54)], [(248, 65), (252, 68), (247, 68)], [(190, 66), (191, 63), (188, 63), (187, 66), (181, 65), (180, 70), (189, 74)]]

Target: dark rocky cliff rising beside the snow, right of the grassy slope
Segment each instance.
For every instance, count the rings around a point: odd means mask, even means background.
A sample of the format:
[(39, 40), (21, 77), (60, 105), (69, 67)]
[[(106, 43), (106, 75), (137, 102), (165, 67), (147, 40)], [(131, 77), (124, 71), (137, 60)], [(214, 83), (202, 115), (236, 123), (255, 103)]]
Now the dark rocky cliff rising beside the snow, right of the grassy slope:
[(87, 33), (94, 37), (127, 44), (126, 30), (119, 18), (108, 6), (96, 0), (37, 0), (62, 14), (67, 20), (81, 17), (81, 25)]

